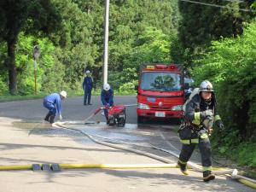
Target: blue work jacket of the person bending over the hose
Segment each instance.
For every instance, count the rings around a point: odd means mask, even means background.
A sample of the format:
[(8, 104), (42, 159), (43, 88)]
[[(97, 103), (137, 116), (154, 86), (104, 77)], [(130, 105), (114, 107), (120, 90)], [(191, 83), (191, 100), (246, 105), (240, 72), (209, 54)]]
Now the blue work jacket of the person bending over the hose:
[(52, 93), (44, 97), (44, 108), (49, 109), (50, 114), (61, 114), (61, 96), (59, 93)]

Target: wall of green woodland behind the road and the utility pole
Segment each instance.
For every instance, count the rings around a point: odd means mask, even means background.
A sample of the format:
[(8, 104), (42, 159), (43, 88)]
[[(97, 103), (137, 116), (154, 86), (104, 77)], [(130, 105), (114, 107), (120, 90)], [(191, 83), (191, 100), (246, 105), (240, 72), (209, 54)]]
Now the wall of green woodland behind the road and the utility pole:
[[(8, 3), (10, 1), (6, 1), (1, 8), (9, 7)], [(20, 3), (24, 3), (24, 6), (20, 6)], [(6, 86), (13, 83), (9, 87), (11, 93), (15, 93), (16, 88), (19, 94), (32, 93), (34, 84), (31, 63), (32, 47), (35, 44), (43, 46), (42, 56), (38, 60), (38, 91), (56, 91), (64, 87), (80, 90), (84, 70), (87, 69), (93, 72), (96, 87), (102, 86), (104, 25), (104, 3), (102, 1), (20, 0), (15, 6), (20, 12), (12, 12), (12, 18), (17, 18), (25, 12), (27, 15), (22, 15), (22, 25), (20, 24), (15, 31), (15, 41), (12, 45), (15, 49), (12, 55), (8, 54), (8, 41), (4, 38), (9, 35), (4, 36), (5, 33), (1, 33), (0, 87), (2, 87), (2, 94), (6, 92)], [(35, 6), (38, 6), (37, 9), (34, 9)], [(38, 12), (39, 17), (36, 17), (32, 10)], [(44, 12), (52, 10), (58, 14), (56, 16), (58, 20), (48, 18), (52, 23), (47, 23), (49, 27), (43, 27), (47, 19)], [(9, 18), (9, 12), (11, 9), (8, 9), (6, 13), (1, 13), (0, 20), (5, 21), (1, 24), (7, 23), (11, 26), (9, 22), (12, 21), (6, 19)], [(49, 30), (55, 22), (58, 22), (57, 30)], [(109, 83), (115, 89), (121, 86), (131, 88), (137, 84), (137, 68), (142, 62), (171, 61), (171, 45), (172, 39), (177, 37), (177, 22), (176, 1), (111, 1), (108, 48)], [(0, 27), (3, 29), (2, 32), (6, 31), (6, 26)], [(43, 32), (39, 32), (40, 30)], [(42, 44), (41, 41), (46, 32), (48, 32), (48, 40)], [(33, 36), (27, 36), (28, 34)], [(50, 44), (49, 51), (45, 49), (48, 44)], [(22, 52), (20, 49), (26, 51)], [(23, 58), (26, 56), (26, 59)], [(54, 65), (49, 66), (49, 63), (45, 63), (46, 57), (52, 58)], [(9, 58), (12, 60), (10, 61)], [(20, 59), (22, 60), (21, 66)], [(12, 71), (8, 70), (9, 66), (13, 68)], [(51, 69), (43, 70), (44, 66), (51, 67)], [(7, 76), (8, 71), (9, 76)], [(18, 84), (12, 83), (9, 77), (17, 78)]]

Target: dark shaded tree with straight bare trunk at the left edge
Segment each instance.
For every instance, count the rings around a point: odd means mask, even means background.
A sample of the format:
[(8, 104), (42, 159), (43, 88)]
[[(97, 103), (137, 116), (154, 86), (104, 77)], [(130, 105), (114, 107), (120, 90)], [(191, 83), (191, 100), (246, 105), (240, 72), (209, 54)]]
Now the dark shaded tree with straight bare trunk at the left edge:
[(27, 33), (51, 32), (58, 26), (59, 15), (49, 0), (6, 0), (0, 3), (0, 37), (7, 43), (9, 91), (17, 90), (15, 45), (22, 30)]

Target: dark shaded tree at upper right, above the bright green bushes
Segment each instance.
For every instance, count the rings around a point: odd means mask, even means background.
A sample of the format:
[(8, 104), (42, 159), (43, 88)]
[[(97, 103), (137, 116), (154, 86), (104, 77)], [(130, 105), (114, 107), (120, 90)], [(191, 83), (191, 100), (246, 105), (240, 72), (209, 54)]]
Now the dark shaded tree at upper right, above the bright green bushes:
[[(252, 1), (218, 1), (202, 0), (199, 3), (226, 6), (230, 9), (212, 7), (197, 3), (179, 1), (182, 19), (178, 29), (181, 54), (191, 65), (191, 61), (201, 57), (212, 40), (226, 37), (237, 37), (243, 32), (242, 22), (253, 18), (253, 13), (239, 9), (249, 9)], [(233, 9), (232, 9), (233, 8)]]

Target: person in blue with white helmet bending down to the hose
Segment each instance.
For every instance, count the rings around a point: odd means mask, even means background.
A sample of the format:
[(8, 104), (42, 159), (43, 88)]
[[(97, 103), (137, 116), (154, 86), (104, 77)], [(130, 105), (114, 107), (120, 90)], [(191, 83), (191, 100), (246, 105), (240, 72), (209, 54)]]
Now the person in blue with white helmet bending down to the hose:
[(67, 92), (62, 90), (61, 93), (52, 93), (49, 96), (44, 97), (44, 108), (48, 108), (49, 112), (46, 114), (44, 120), (49, 121), (50, 124), (53, 124), (55, 121), (56, 113), (59, 114), (60, 120), (61, 116), (61, 100), (67, 98)]

